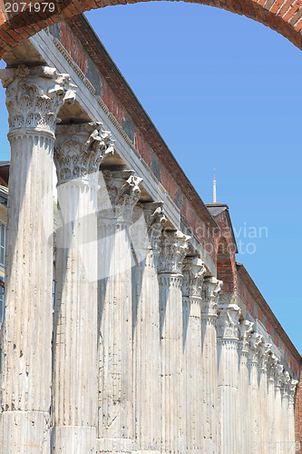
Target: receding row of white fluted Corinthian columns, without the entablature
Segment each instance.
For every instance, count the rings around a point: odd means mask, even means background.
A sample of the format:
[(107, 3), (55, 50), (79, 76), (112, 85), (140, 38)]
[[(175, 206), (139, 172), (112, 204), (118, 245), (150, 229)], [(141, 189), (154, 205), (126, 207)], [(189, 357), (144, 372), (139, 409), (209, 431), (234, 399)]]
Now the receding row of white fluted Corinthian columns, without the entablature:
[(56, 125), (69, 76), (0, 77), (12, 148), (1, 452), (294, 453), (297, 381), (237, 295), (219, 298), (190, 236), (164, 229), (163, 203), (143, 202), (140, 176), (102, 168), (111, 133)]

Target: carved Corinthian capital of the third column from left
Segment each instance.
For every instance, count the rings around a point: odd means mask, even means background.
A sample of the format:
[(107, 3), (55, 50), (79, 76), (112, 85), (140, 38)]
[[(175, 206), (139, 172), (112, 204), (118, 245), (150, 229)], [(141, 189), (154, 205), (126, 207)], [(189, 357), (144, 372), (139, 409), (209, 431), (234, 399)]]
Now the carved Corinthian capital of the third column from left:
[[(140, 200), (142, 179), (134, 175), (133, 170), (103, 171), (105, 187), (101, 188), (109, 196), (110, 208), (99, 213), (99, 221), (114, 219), (118, 223), (132, 223), (133, 210)], [(102, 195), (101, 199), (102, 199)], [(102, 204), (102, 201), (101, 201)]]

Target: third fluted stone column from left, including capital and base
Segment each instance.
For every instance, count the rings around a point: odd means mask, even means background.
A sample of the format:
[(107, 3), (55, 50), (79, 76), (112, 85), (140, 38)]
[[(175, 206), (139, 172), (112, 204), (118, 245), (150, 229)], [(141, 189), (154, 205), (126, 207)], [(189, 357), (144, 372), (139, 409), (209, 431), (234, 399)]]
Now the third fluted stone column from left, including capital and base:
[(130, 228), (141, 178), (132, 170), (103, 171), (99, 184), (98, 405), (106, 452), (122, 451), (134, 439)]

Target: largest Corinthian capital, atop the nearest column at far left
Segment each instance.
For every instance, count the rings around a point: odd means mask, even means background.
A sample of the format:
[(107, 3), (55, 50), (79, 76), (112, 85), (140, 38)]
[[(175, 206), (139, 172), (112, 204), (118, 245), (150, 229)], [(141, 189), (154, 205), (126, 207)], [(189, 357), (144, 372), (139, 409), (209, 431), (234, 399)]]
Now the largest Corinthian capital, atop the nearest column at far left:
[(0, 70), (0, 78), (6, 88), (8, 135), (22, 129), (54, 135), (60, 108), (74, 102), (70, 76), (48, 66), (20, 65)]

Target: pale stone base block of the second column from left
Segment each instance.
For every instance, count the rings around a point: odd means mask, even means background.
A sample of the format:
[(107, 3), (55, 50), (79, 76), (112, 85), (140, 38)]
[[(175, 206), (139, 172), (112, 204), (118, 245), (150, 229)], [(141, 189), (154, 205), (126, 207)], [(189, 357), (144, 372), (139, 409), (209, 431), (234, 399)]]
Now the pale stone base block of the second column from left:
[(96, 428), (86, 426), (58, 426), (52, 432), (52, 453), (95, 454)]

